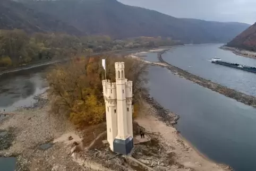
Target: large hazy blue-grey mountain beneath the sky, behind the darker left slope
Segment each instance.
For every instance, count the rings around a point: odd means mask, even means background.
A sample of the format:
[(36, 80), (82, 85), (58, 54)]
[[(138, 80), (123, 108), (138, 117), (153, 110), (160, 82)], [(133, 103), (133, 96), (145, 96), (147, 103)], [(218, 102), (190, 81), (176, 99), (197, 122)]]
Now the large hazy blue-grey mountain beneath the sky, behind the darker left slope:
[(249, 27), (244, 23), (177, 19), (153, 10), (124, 5), (116, 0), (24, 3), (38, 11), (54, 15), (80, 31), (114, 38), (163, 36), (183, 42), (227, 42)]

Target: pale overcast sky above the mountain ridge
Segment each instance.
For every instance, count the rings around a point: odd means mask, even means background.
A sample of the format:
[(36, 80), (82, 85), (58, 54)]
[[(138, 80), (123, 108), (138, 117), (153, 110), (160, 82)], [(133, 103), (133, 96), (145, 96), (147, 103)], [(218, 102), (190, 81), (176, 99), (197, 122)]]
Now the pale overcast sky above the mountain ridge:
[(256, 22), (256, 0), (118, 0), (177, 18)]

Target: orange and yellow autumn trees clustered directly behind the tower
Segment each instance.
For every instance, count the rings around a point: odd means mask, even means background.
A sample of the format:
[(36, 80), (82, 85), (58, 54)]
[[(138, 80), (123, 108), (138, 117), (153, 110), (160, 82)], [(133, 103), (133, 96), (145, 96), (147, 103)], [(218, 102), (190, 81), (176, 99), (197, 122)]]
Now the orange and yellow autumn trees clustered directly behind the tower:
[[(52, 109), (66, 115), (75, 125), (87, 126), (105, 121), (102, 80), (105, 71), (101, 59), (107, 61), (107, 79), (115, 82), (115, 62), (125, 62), (125, 77), (133, 81), (133, 105), (139, 109), (142, 93), (147, 92), (147, 65), (127, 57), (92, 56), (73, 58), (58, 64), (47, 74)], [(134, 112), (136, 114), (137, 111)]]

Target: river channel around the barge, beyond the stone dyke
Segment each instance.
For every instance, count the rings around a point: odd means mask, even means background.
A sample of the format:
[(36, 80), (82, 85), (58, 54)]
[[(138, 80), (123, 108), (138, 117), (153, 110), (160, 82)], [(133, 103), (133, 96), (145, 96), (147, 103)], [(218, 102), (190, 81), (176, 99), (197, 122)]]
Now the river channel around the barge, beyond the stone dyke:
[(223, 61), (256, 66), (256, 59), (235, 55), (219, 46), (221, 44), (179, 46), (163, 54), (163, 59), (204, 79), (256, 96), (255, 73), (209, 62), (213, 57), (220, 57)]

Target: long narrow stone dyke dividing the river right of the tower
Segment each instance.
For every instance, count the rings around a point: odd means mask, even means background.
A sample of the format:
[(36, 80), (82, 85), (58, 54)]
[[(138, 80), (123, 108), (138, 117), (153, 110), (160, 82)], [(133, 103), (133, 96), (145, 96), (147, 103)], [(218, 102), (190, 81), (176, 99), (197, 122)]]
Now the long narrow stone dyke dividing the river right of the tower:
[[(165, 53), (167, 50), (169, 49), (165, 49), (162, 52), (159, 52), (157, 54), (157, 57), (159, 59), (159, 62), (148, 62), (146, 61), (146, 63), (150, 64), (150, 65), (154, 65), (154, 66), (161, 66), (161, 67), (165, 67), (166, 69), (172, 71), (173, 73), (181, 76), (182, 78), (185, 78), (187, 80), (190, 80), (194, 83), (199, 84), (200, 86), (203, 86), (205, 88), (211, 89), (212, 91), (216, 91), (226, 97), (229, 98), (233, 98), (237, 101), (242, 102), (245, 105), (249, 105), (252, 107), (256, 107), (256, 97), (254, 96), (250, 96), (250, 95), (246, 95), (245, 93), (227, 88), (225, 86), (221, 86), (220, 84), (214, 83), (210, 80), (207, 79), (203, 79), (197, 75), (193, 75), (187, 71), (184, 71), (176, 66), (173, 66), (167, 62), (164, 61), (164, 59), (161, 57), (161, 55), (163, 53)], [(142, 60), (143, 62), (145, 62), (143, 59), (140, 58), (140, 60)]]

